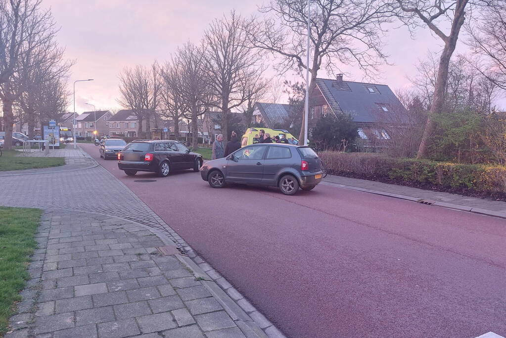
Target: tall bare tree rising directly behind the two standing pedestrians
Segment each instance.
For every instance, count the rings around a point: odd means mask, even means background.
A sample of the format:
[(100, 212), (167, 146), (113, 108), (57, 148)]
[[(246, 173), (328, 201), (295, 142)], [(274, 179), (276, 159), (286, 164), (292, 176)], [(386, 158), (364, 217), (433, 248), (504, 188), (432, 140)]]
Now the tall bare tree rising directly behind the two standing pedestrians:
[(214, 95), (222, 111), (221, 131), (228, 138), (227, 113), (248, 99), (246, 87), (263, 72), (260, 55), (247, 44), (245, 20), (234, 11), (214, 20), (204, 33), (205, 61)]

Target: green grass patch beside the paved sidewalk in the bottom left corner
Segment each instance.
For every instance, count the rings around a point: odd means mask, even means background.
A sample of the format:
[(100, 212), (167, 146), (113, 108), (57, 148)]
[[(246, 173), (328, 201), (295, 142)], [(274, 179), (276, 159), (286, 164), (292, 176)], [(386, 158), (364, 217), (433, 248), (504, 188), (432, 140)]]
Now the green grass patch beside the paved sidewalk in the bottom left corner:
[(14, 302), (30, 278), (28, 258), (37, 242), (35, 233), (42, 210), (0, 206), (0, 336), (7, 331)]

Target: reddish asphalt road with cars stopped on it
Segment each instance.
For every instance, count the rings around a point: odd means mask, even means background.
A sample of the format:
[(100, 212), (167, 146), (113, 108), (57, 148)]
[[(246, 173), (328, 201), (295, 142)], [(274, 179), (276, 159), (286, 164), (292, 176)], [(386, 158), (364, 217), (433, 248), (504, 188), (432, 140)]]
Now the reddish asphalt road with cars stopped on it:
[(504, 220), (325, 185), (128, 177), (81, 146), (288, 336), (506, 336)]

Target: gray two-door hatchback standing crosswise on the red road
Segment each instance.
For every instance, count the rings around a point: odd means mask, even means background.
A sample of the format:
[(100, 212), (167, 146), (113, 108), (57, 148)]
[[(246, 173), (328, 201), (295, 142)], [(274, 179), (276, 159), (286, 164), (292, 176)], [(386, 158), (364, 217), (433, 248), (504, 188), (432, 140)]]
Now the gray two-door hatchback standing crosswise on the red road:
[(279, 187), (285, 195), (311, 190), (321, 181), (321, 161), (313, 149), (285, 143), (254, 144), (205, 162), (202, 180), (213, 188), (226, 183)]

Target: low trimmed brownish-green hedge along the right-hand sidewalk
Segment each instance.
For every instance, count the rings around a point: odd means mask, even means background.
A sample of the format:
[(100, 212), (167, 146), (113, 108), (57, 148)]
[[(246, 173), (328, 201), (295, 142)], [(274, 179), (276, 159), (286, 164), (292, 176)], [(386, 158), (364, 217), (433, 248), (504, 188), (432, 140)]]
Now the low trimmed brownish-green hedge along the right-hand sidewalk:
[(506, 166), (457, 164), (426, 159), (392, 158), (381, 154), (324, 151), (320, 157), (330, 173), (399, 184), (425, 185), (451, 191), (506, 193)]

